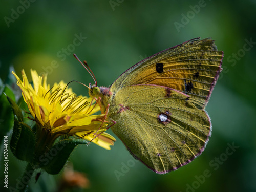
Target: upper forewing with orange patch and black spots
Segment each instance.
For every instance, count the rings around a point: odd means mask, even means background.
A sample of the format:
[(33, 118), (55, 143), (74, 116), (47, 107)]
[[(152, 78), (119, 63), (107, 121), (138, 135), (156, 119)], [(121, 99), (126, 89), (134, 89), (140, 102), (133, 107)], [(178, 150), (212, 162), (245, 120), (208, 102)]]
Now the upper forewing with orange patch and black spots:
[(222, 58), (214, 40), (191, 39), (137, 63), (112, 84), (111, 91), (156, 84), (189, 95), (198, 109), (204, 109), (221, 71)]

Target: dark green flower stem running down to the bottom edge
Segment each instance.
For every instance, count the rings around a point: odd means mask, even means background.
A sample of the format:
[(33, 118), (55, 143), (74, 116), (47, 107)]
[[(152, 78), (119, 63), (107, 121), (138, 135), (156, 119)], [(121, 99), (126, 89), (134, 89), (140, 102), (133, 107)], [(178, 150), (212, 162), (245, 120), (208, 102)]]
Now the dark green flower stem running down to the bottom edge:
[(34, 168), (31, 166), (30, 163), (27, 164), (27, 167), (22, 175), (22, 178), (19, 180), (19, 183), (16, 185), (16, 189), (20, 192), (27, 191), (29, 187), (29, 181), (31, 179), (31, 176), (34, 173)]

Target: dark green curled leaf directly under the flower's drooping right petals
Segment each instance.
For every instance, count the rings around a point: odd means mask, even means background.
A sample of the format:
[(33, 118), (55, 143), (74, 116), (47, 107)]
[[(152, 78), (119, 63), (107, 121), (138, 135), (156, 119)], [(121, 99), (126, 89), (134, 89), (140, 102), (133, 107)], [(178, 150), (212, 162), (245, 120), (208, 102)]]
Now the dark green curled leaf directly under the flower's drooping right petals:
[(49, 152), (39, 158), (40, 167), (49, 174), (58, 174), (65, 165), (73, 149), (79, 144), (87, 144), (84, 139), (61, 140), (49, 150)]

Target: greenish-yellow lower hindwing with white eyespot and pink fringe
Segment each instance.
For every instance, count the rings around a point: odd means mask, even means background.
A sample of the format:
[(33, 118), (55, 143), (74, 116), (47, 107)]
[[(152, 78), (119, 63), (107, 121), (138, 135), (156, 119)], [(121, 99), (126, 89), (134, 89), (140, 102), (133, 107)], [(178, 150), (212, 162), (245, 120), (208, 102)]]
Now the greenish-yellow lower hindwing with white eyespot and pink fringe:
[(202, 153), (211, 125), (188, 95), (142, 84), (123, 87), (113, 98), (112, 131), (154, 172), (175, 170)]

